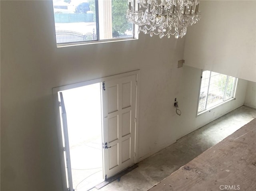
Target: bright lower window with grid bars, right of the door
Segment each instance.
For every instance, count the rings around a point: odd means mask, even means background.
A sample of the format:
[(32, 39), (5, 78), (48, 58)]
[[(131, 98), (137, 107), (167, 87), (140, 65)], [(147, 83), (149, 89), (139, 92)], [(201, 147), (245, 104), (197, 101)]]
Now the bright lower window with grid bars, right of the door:
[(203, 71), (201, 77), (198, 111), (200, 114), (223, 102), (234, 99), (237, 78), (212, 72)]

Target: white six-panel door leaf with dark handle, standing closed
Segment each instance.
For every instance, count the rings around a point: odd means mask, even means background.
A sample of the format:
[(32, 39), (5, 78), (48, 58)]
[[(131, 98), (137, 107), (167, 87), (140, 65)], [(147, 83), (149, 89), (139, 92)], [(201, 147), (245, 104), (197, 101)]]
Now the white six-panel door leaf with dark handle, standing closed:
[(105, 179), (134, 164), (136, 75), (102, 83)]

